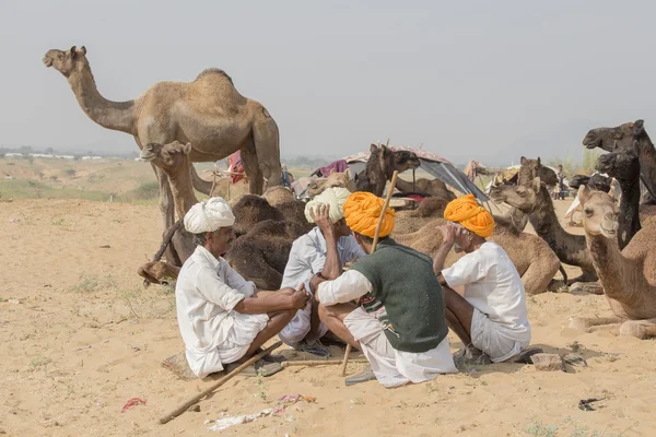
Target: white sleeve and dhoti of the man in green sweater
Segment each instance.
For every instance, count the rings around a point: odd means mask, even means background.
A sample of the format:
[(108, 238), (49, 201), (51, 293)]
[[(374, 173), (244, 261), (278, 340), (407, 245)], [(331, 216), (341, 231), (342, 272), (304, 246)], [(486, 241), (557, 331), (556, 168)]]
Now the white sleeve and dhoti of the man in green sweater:
[[(372, 283), (360, 272), (349, 270), (335, 281), (319, 284), (318, 297), (323, 305), (344, 304), (364, 296), (373, 290)], [(383, 311), (380, 308), (378, 311)], [(397, 351), (376, 318), (358, 307), (344, 318), (344, 326), (372, 365), (376, 379), (385, 387), (398, 387), (408, 382), (423, 382), (442, 374), (458, 371), (450, 354), (448, 339), (422, 353)]]

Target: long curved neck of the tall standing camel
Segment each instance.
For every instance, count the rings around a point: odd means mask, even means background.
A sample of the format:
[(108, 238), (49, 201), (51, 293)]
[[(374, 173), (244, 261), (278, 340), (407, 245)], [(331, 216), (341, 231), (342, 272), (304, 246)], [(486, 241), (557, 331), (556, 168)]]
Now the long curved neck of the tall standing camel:
[(103, 97), (89, 67), (73, 71), (68, 82), (89, 118), (106, 129), (132, 133), (134, 101), (112, 102)]

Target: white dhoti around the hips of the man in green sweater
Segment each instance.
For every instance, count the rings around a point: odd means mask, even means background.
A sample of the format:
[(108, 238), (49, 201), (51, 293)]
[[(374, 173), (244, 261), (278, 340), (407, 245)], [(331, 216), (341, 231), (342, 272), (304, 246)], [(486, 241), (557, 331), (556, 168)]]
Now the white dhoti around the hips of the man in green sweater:
[(385, 387), (423, 382), (441, 374), (456, 374), (448, 340), (426, 352), (397, 351), (391, 346), (378, 319), (358, 307), (344, 318), (344, 326), (372, 365), (376, 379)]

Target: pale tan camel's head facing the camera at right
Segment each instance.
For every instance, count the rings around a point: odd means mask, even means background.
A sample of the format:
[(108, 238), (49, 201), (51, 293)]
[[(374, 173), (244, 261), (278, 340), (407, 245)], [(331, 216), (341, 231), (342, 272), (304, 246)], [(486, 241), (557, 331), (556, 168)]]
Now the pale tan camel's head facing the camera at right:
[(601, 235), (606, 238), (617, 238), (620, 224), (618, 222), (618, 206), (612, 198), (605, 192), (584, 186), (578, 199), (584, 212), (583, 227), (585, 233), (590, 236)]

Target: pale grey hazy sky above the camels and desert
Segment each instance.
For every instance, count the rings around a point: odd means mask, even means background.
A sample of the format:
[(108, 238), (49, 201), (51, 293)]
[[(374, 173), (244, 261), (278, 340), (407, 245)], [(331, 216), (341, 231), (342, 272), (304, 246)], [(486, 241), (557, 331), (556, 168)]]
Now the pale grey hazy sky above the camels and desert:
[(655, 17), (649, 1), (0, 0), (0, 145), (137, 150), (42, 63), (84, 45), (113, 101), (224, 69), (283, 155), (390, 137), (457, 163), (579, 158), (589, 128), (656, 127)]

